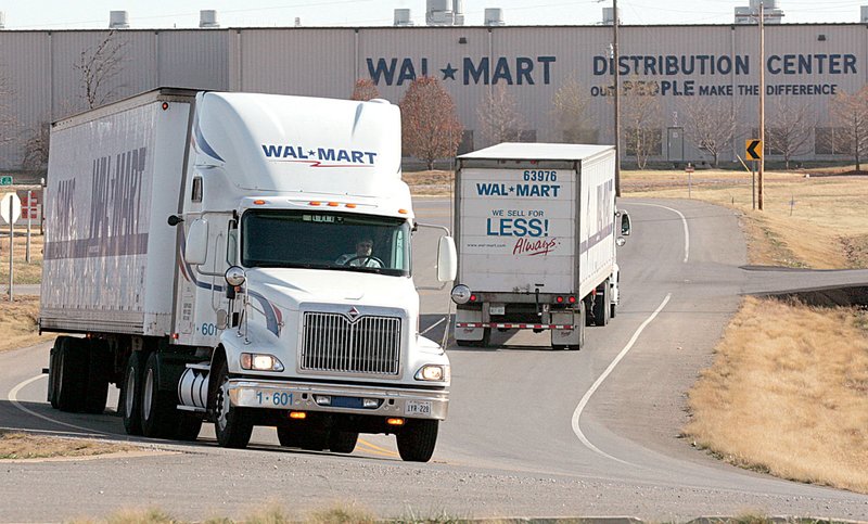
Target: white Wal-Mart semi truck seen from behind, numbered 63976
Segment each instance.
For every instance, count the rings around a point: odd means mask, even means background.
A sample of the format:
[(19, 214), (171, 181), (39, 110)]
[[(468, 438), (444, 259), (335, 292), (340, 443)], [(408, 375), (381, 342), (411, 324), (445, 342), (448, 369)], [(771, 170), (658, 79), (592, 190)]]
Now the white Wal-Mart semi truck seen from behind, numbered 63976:
[(620, 299), (615, 247), (630, 222), (615, 208), (614, 148), (500, 143), (457, 167), (457, 343), (531, 329), (582, 348), (585, 325), (605, 325)]

